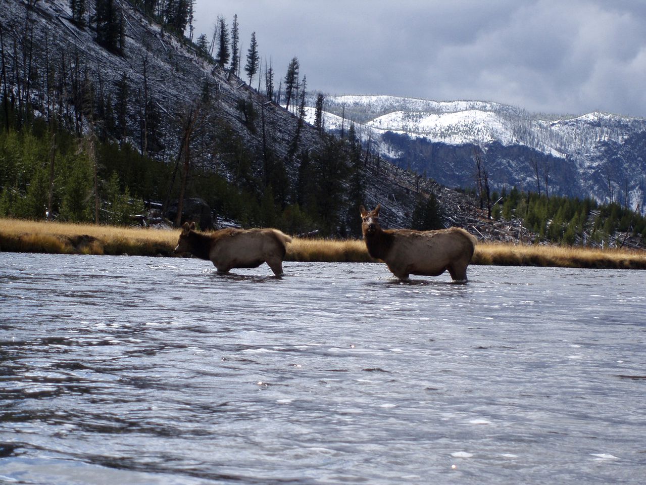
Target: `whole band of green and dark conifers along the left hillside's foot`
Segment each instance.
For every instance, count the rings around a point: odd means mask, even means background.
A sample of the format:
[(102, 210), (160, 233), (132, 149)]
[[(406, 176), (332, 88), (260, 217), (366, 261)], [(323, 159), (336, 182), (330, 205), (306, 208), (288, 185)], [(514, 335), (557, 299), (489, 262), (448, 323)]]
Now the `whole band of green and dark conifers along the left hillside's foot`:
[[(186, 196), (247, 227), (360, 235), (364, 152), (357, 139), (326, 136), (322, 149), (301, 150), (295, 177), (282, 158), (248, 149), (228, 125), (217, 127), (211, 143), (222, 156), (192, 163)], [(129, 225), (147, 202), (178, 198), (177, 174), (129, 143), (54, 131), (44, 118), (0, 130), (1, 217)]]

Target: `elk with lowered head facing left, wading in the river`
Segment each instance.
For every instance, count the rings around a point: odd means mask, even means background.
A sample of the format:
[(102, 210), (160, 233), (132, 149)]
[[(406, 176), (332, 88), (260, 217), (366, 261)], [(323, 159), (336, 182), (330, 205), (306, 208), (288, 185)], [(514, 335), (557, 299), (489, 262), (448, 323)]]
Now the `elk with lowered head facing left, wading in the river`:
[(195, 223), (185, 222), (175, 253), (191, 253), (210, 260), (218, 273), (233, 268), (257, 268), (267, 263), (276, 276), (283, 274), (282, 260), (291, 237), (277, 229), (220, 229), (208, 234), (196, 232)]

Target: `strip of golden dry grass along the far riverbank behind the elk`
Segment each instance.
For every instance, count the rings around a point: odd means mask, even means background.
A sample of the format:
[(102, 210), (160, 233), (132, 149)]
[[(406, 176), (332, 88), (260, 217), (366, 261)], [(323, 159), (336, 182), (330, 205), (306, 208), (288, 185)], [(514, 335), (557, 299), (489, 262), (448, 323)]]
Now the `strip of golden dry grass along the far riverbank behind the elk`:
[[(0, 219), (0, 251), (173, 256), (179, 230)], [(287, 261), (373, 262), (361, 240), (294, 238)], [(646, 269), (646, 251), (479, 243), (474, 264)]]

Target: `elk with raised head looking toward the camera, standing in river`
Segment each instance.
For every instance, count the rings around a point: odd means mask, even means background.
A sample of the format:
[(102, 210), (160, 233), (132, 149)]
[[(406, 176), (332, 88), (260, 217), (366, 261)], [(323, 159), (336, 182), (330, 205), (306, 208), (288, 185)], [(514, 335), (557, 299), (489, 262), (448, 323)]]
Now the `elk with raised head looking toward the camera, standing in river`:
[(382, 229), (380, 205), (368, 212), (360, 208), (362, 232), (368, 253), (382, 260), (397, 278), (410, 274), (439, 276), (448, 271), (455, 281), (466, 282), (466, 267), (475, 251), (475, 238), (464, 229), (439, 231)]

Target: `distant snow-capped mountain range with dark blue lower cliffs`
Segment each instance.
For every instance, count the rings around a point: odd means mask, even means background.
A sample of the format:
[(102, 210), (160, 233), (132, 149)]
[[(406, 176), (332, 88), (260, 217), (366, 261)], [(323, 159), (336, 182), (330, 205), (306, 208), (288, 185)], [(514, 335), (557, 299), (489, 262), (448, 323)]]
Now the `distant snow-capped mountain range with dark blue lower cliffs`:
[(477, 152), (492, 190), (547, 187), (550, 194), (616, 201), (644, 213), (646, 119), (394, 96), (326, 96), (324, 111), (326, 130), (354, 123), (382, 158), (448, 187), (475, 186)]

